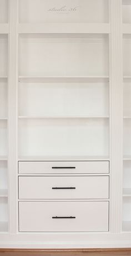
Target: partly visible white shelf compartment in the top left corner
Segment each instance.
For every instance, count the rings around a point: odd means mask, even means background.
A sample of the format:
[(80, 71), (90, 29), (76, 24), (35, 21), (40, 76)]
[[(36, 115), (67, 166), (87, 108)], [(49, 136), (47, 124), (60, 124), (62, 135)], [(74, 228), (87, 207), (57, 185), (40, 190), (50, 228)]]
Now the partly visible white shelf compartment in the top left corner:
[(0, 24), (8, 23), (8, 0), (0, 0)]

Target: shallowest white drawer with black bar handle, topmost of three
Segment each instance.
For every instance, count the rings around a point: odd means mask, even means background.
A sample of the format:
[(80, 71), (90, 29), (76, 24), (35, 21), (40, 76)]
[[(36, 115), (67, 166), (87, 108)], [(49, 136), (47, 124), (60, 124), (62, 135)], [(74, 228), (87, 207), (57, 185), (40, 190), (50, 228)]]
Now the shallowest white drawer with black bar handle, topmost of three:
[(19, 161), (19, 173), (109, 173), (109, 161)]

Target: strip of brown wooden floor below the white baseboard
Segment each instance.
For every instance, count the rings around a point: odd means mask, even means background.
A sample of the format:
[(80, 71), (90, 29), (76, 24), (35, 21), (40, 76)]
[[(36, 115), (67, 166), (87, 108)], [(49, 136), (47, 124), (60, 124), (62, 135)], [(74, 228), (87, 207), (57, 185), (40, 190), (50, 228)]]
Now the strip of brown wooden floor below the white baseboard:
[(131, 256), (131, 248), (125, 249), (0, 249), (0, 256)]

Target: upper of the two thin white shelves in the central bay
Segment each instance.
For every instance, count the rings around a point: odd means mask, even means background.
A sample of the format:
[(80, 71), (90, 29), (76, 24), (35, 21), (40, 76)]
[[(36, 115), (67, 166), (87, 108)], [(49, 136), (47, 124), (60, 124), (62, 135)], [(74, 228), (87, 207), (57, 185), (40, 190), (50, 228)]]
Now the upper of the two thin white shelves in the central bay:
[(100, 83), (109, 82), (109, 76), (19, 76), (20, 83)]

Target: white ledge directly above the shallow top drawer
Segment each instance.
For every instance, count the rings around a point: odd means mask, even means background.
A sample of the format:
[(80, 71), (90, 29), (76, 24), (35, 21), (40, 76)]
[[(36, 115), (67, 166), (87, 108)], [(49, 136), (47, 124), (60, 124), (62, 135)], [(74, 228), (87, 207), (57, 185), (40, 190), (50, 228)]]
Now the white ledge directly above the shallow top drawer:
[(109, 161), (109, 156), (19, 156), (18, 161)]

